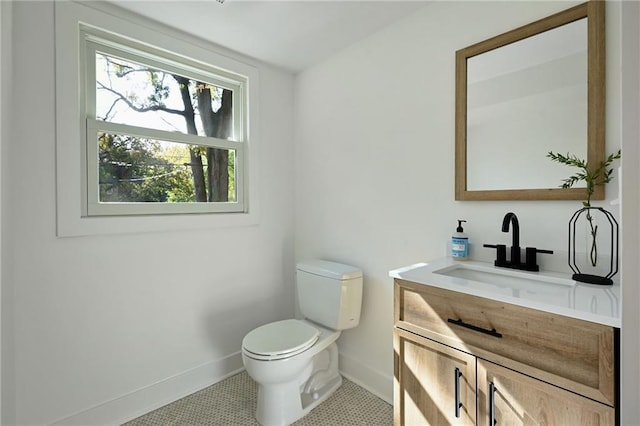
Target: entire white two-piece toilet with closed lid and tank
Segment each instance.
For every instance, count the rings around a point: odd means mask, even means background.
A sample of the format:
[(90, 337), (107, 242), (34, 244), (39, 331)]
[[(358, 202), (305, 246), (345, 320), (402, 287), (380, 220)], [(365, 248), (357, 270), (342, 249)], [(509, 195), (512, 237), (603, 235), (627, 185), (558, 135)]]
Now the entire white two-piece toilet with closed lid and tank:
[(340, 387), (336, 340), (360, 322), (360, 269), (299, 262), (296, 290), (304, 319), (260, 326), (242, 340), (242, 362), (258, 384), (256, 419), (262, 426), (291, 424)]

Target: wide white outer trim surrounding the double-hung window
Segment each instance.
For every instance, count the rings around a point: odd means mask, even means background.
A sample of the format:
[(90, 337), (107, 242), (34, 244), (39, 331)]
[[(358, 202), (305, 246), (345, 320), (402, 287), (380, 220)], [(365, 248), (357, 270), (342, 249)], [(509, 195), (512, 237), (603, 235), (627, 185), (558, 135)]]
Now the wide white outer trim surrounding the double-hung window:
[[(56, 235), (140, 234), (196, 231), (256, 226), (260, 223), (260, 71), (258, 61), (201, 38), (128, 13), (103, 2), (55, 2), (55, 162)], [(144, 46), (162, 46), (194, 58), (198, 64), (215, 64), (231, 75), (247, 77), (244, 135), (244, 211), (215, 214), (132, 214), (87, 216), (86, 116), (83, 97), (85, 51), (80, 27), (117, 30), (121, 38)], [(110, 34), (109, 31), (104, 31)], [(162, 52), (158, 49), (159, 53)], [(74, 66), (74, 64), (76, 66)], [(249, 117), (253, 119), (249, 120)]]

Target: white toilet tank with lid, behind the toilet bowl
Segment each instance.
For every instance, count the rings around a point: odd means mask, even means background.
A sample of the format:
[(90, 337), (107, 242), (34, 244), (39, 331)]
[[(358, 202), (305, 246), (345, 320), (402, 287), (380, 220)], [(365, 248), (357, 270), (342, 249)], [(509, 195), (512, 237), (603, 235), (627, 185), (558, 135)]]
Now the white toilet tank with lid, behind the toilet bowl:
[(360, 322), (360, 269), (327, 260), (298, 262), (296, 288), (305, 318), (333, 330), (353, 328)]

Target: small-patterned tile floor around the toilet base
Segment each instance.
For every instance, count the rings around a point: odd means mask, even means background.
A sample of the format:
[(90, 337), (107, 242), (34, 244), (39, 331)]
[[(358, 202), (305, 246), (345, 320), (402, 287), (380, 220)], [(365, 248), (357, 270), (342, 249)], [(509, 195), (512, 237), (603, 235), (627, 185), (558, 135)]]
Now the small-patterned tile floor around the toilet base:
[[(134, 419), (124, 426), (259, 426), (257, 386), (246, 372)], [(390, 426), (393, 408), (349, 380), (294, 426)]]

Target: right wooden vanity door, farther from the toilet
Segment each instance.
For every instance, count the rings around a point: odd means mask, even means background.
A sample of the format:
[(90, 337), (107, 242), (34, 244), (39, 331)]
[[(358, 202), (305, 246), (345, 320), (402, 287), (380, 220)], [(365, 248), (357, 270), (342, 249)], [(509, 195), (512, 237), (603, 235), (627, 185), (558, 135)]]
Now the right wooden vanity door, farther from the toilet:
[(478, 359), (479, 425), (613, 425), (613, 407)]

